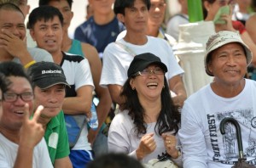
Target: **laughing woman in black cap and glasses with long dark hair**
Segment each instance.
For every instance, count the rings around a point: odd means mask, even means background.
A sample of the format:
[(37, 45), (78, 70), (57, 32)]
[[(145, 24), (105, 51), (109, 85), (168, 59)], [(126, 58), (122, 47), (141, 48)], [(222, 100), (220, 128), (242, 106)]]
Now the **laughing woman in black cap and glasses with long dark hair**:
[(176, 136), (180, 114), (170, 104), (166, 72), (166, 64), (154, 54), (135, 56), (121, 92), (125, 103), (108, 132), (110, 152), (129, 154), (143, 163), (166, 153), (177, 165), (182, 164)]

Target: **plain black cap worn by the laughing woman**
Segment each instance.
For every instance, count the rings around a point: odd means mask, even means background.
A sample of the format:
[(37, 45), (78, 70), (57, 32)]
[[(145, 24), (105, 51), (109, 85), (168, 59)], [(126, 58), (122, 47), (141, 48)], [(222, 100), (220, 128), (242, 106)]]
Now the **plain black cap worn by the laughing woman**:
[(165, 72), (168, 71), (166, 64), (162, 63), (159, 57), (155, 56), (153, 53), (141, 53), (136, 55), (131, 61), (130, 67), (127, 71), (127, 76), (131, 77), (138, 71), (144, 70), (149, 64), (157, 64)]

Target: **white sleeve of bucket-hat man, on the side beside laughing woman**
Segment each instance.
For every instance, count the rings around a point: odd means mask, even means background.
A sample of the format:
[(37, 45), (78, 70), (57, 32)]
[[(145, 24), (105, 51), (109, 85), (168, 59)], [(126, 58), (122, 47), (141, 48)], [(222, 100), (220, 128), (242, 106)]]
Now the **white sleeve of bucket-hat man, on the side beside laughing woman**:
[(207, 145), (195, 111), (185, 102), (182, 109), (181, 129), (184, 168), (207, 168)]

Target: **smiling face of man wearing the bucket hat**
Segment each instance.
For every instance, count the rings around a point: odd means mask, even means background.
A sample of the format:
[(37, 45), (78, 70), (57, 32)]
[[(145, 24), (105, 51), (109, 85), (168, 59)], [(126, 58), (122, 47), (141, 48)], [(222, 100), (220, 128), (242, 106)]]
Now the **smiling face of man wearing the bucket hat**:
[(234, 86), (247, 72), (247, 59), (241, 44), (233, 42), (212, 52), (208, 64), (215, 81), (225, 86)]

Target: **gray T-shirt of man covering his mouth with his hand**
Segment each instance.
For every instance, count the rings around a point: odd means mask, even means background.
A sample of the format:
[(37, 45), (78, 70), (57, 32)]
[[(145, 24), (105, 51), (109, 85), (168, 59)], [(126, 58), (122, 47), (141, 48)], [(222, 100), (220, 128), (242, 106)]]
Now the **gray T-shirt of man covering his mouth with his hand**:
[[(31, 54), (32, 58), (36, 62), (54, 62), (52, 59), (52, 55), (42, 48), (27, 48), (27, 51)], [(18, 58), (13, 59), (13, 61), (16, 63), (20, 63), (20, 59)]]

